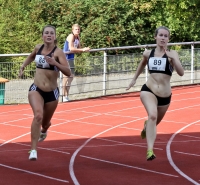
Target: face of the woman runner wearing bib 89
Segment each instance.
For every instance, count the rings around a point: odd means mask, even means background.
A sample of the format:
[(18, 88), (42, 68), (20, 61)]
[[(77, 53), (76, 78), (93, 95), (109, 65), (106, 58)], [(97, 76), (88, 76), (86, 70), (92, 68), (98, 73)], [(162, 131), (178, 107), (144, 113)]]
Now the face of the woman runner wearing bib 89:
[(169, 42), (169, 32), (165, 29), (159, 29), (155, 39), (159, 46), (167, 46), (167, 43)]

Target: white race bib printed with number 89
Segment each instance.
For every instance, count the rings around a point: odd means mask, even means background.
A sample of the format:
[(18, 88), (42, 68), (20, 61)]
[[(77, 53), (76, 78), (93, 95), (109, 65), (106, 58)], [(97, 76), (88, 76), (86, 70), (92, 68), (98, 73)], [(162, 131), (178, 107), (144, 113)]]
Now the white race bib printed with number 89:
[(166, 58), (151, 57), (149, 59), (149, 70), (165, 71), (166, 62)]

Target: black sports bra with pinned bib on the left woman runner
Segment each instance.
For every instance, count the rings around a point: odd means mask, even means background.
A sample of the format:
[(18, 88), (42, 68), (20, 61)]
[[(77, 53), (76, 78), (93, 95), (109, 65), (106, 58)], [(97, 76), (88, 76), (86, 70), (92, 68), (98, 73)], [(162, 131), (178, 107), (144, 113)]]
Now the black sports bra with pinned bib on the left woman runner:
[[(46, 62), (44, 55), (41, 55), (43, 48), (44, 48), (44, 44), (40, 47), (40, 49), (36, 53), (36, 56), (35, 56), (36, 67), (40, 68), (40, 69), (48, 69), (48, 70), (53, 70), (53, 71), (59, 71), (59, 69), (56, 66), (51, 65), (48, 62)], [(55, 46), (53, 48), (53, 50), (49, 54), (47, 54), (46, 56), (51, 57), (52, 53), (54, 53), (56, 48), (57, 48), (57, 46)]]

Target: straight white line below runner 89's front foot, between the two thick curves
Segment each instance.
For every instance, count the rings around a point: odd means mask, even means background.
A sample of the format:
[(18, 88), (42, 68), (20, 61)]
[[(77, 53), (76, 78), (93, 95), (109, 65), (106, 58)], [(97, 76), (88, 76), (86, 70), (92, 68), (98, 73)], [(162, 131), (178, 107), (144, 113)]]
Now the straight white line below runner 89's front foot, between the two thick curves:
[(133, 169), (142, 170), (142, 171), (146, 171), (146, 172), (156, 173), (156, 174), (159, 174), (159, 175), (166, 175), (166, 176), (170, 176), (170, 177), (179, 177), (177, 175), (158, 172), (158, 171), (154, 171), (154, 170), (148, 170), (148, 169), (145, 169), (145, 168), (140, 168), (140, 167), (136, 167), (136, 166), (130, 166), (130, 165), (127, 165), (127, 164), (122, 164), (122, 163), (117, 163), (117, 162), (97, 159), (97, 158), (88, 157), (88, 156), (84, 156), (84, 155), (80, 155), (80, 156), (84, 157), (84, 158), (87, 158), (87, 159), (92, 159), (92, 160), (95, 160), (95, 161), (101, 161), (101, 162), (104, 162), (104, 163), (115, 164), (115, 165), (118, 165), (118, 166), (124, 166), (124, 167), (127, 167), (127, 168), (133, 168)]

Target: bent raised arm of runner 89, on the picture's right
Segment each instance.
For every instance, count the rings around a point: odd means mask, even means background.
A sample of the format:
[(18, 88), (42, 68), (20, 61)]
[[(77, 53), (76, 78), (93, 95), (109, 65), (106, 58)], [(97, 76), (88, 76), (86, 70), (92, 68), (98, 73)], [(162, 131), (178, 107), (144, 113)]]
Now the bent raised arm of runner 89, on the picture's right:
[(181, 65), (178, 53), (175, 50), (166, 51), (166, 54), (169, 58), (171, 58), (172, 65), (178, 75), (183, 76), (184, 75), (184, 69)]

